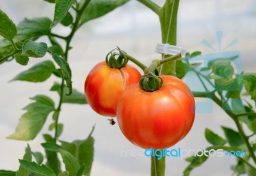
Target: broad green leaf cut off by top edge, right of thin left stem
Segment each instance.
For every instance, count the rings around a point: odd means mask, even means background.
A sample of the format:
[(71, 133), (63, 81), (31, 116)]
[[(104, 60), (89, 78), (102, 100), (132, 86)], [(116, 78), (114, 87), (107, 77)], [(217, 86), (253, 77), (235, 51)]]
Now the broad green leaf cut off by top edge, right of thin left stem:
[[(81, 0), (79, 3), (79, 8), (81, 8), (82, 4), (84, 4), (84, 1), (86, 0)], [(88, 22), (89, 20), (93, 20), (95, 18), (99, 18), (109, 11), (114, 10), (118, 6), (122, 6), (123, 4), (127, 3), (129, 0), (93, 0), (90, 1), (88, 6), (83, 12), (83, 15), (81, 17), (81, 22), (79, 26), (82, 26), (85, 22)]]

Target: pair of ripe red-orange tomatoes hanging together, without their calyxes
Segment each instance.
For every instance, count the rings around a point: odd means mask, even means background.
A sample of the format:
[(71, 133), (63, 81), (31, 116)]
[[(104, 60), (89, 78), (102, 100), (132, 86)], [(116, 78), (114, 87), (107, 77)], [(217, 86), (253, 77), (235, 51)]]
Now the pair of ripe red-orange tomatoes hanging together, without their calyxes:
[(191, 129), (195, 99), (179, 78), (161, 75), (163, 85), (147, 92), (138, 83), (134, 67), (109, 68), (100, 62), (84, 84), (86, 99), (95, 112), (117, 118), (124, 136), (143, 149), (164, 149), (175, 145)]

